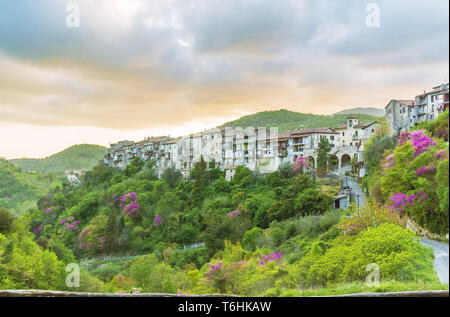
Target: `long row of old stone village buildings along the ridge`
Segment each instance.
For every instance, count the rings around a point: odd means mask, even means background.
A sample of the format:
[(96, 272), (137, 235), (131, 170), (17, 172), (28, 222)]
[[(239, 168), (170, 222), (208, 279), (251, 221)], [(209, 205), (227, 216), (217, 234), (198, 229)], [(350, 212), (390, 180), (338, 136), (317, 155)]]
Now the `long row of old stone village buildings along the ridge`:
[[(414, 100), (391, 100), (385, 107), (386, 119), (394, 135), (406, 131), (419, 122), (433, 121), (448, 110), (449, 84), (423, 92)], [(201, 158), (209, 165), (225, 170), (230, 180), (237, 166), (252, 171), (271, 173), (285, 163), (299, 157), (309, 159), (310, 168), (317, 164), (318, 144), (327, 138), (332, 145), (335, 170), (345, 172), (352, 163), (358, 166), (359, 176), (365, 175), (364, 143), (374, 134), (380, 122), (360, 123), (357, 116), (348, 116), (337, 128), (295, 129), (278, 133), (277, 128), (216, 128), (179, 138), (158, 136), (139, 142), (120, 141), (111, 144), (104, 157), (106, 166), (125, 168), (134, 158), (155, 163), (158, 176), (164, 169), (175, 167), (189, 178), (190, 170)]]

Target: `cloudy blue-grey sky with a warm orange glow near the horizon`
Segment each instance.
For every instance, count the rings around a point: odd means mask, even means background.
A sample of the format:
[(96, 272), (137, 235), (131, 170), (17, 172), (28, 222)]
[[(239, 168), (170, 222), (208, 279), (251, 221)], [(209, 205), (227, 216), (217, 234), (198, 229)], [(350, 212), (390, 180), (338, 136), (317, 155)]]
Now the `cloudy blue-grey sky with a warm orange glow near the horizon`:
[[(0, 157), (180, 136), (264, 110), (332, 114), (413, 99), (448, 82), (448, 7), (0, 0)], [(68, 27), (76, 13), (79, 27)]]

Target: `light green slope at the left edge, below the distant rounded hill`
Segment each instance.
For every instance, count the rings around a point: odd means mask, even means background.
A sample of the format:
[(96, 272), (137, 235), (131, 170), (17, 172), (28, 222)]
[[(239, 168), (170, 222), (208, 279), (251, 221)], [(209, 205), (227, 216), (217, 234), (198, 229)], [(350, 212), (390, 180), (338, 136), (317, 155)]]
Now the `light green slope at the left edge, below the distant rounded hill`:
[(6, 208), (12, 214), (21, 214), (36, 207), (36, 201), (60, 183), (54, 174), (26, 173), (0, 159), (0, 208)]

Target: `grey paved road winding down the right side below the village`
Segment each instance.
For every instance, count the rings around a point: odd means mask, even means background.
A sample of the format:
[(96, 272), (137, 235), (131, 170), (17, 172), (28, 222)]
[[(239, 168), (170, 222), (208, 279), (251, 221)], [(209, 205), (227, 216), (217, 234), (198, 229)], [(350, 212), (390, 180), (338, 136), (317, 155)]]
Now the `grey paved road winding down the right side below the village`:
[[(361, 187), (358, 182), (352, 177), (348, 177), (345, 175), (340, 175), (343, 184), (348, 184), (351, 189), (351, 195), (355, 199), (355, 202), (358, 204), (358, 195), (359, 195), (359, 204), (358, 207), (361, 208), (362, 205), (366, 202), (366, 195), (364, 195)], [(439, 277), (439, 280), (442, 284), (448, 283), (448, 271), (449, 271), (449, 247), (448, 244), (441, 243), (438, 241), (430, 240), (425, 237), (420, 238), (420, 243), (424, 246), (433, 248), (434, 252), (434, 269)]]

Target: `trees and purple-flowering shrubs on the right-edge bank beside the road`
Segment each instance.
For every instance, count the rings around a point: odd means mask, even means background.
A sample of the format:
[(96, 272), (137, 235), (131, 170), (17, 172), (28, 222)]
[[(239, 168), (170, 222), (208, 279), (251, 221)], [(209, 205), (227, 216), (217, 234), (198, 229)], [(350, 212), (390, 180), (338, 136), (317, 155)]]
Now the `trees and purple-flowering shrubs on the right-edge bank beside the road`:
[[(422, 128), (427, 130), (422, 130)], [(401, 133), (396, 146), (375, 135), (366, 147), (372, 198), (434, 233), (449, 231), (448, 111), (416, 130)], [(383, 153), (380, 158), (378, 153)]]

